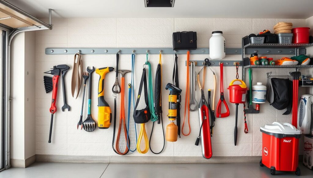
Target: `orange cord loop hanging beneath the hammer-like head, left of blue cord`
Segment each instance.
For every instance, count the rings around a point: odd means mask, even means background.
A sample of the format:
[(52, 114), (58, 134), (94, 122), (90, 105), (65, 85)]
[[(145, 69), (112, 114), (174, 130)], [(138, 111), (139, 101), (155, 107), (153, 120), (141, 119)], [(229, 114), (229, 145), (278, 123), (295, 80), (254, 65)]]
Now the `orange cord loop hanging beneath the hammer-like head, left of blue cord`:
[[(127, 145), (127, 142), (128, 142), (128, 139), (127, 139), (127, 130), (126, 130), (126, 123), (125, 123), (125, 104), (124, 104), (124, 98), (125, 98), (125, 84), (124, 84), (124, 77), (121, 78), (121, 110), (120, 110), (120, 126), (118, 128), (118, 133), (117, 133), (117, 138), (116, 138), (116, 142), (115, 142), (115, 149), (116, 149), (116, 152), (118, 152), (118, 154), (120, 155), (125, 155), (127, 152), (128, 152), (128, 147), (126, 146)], [(119, 148), (119, 141), (120, 141), (120, 136), (121, 136), (121, 127), (122, 127), (122, 124), (124, 124), (124, 135), (125, 135), (125, 151), (124, 152), (121, 152), (120, 151), (120, 148)]]

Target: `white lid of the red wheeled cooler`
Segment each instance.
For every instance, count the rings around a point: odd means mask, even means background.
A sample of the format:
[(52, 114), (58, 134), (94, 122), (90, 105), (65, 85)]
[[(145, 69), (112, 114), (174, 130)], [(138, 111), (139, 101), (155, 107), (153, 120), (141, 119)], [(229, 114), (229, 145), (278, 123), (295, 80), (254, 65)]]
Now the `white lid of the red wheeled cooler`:
[(296, 129), (295, 126), (291, 125), (290, 123), (279, 123), (273, 122), (271, 124), (265, 124), (264, 126), (260, 127), (261, 132), (269, 132), (269, 133), (278, 133), (278, 134), (285, 134), (285, 135), (300, 135), (301, 131)]

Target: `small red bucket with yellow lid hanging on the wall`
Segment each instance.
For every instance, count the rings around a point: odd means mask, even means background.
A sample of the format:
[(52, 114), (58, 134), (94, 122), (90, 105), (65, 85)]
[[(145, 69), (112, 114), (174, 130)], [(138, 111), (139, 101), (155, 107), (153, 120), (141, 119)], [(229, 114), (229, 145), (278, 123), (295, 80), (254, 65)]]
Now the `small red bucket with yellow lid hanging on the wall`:
[[(241, 82), (241, 84), (233, 84), (236, 81)], [(248, 89), (244, 81), (235, 79), (229, 84), (227, 89), (229, 90), (229, 101), (231, 103), (245, 103)]]

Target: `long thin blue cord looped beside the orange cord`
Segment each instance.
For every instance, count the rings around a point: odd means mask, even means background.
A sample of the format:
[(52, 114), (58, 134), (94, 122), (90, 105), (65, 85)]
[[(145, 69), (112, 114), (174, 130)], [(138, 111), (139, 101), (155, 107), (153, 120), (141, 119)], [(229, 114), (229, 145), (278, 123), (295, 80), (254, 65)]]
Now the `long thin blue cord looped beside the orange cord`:
[[(134, 92), (134, 70), (135, 70), (135, 54), (131, 55), (131, 87), (128, 89), (128, 123), (127, 123), (127, 138), (129, 138), (129, 120), (131, 118), (130, 116), (130, 111), (131, 111), (131, 95), (133, 96), (133, 106), (135, 108), (135, 92)], [(131, 94), (131, 89), (133, 90), (132, 94)], [(135, 132), (136, 132), (136, 145), (137, 145), (137, 129), (136, 129), (136, 123), (135, 124)], [(131, 151), (131, 152), (135, 152), (137, 148), (135, 148), (135, 150), (131, 150), (130, 146), (127, 142), (127, 148)]]

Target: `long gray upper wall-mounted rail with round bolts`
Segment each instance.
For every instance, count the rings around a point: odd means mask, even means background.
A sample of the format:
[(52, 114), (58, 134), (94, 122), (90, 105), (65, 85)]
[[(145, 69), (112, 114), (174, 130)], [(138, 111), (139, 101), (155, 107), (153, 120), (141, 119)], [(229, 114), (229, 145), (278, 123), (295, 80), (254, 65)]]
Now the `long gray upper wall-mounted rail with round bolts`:
[[(146, 54), (147, 50), (149, 54), (175, 54), (172, 48), (46, 48), (46, 54), (116, 54), (121, 50), (120, 54)], [(134, 52), (133, 52), (134, 51)], [(241, 54), (241, 48), (226, 48), (226, 54)], [(251, 53), (258, 54), (282, 54), (292, 55), (295, 54), (294, 48), (276, 48), (276, 49), (263, 49), (263, 48), (248, 48), (245, 50), (246, 54)], [(178, 50), (177, 54), (186, 54), (187, 50)], [(305, 54), (306, 50), (299, 49), (299, 54)], [(209, 54), (209, 48), (198, 48), (196, 50), (190, 50), (190, 54)]]

